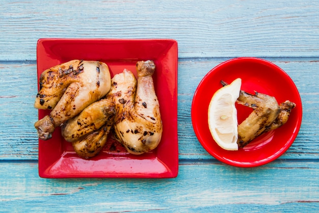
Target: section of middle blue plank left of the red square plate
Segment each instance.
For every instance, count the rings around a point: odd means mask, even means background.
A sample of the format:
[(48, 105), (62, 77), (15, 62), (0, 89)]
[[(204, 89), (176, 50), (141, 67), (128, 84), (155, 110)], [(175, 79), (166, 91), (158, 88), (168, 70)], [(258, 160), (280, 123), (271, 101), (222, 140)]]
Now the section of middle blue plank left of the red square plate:
[[(35, 62), (0, 62), (0, 159), (32, 159), (38, 154), (36, 131), (38, 111)], [(35, 93), (36, 92), (36, 93)]]

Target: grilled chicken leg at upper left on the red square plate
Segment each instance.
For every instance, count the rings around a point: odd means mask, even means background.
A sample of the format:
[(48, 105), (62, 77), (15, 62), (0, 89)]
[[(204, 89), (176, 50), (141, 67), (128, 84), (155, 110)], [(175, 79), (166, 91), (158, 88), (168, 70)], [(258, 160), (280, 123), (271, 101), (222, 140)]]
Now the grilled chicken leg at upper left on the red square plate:
[(102, 62), (72, 60), (45, 70), (39, 83), (35, 108), (52, 111), (35, 127), (39, 138), (48, 140), (57, 126), (109, 92), (111, 76)]

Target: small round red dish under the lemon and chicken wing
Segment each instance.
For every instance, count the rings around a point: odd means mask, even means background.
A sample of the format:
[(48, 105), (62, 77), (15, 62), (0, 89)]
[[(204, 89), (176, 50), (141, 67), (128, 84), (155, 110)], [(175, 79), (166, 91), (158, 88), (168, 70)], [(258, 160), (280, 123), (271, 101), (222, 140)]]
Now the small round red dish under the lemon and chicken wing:
[[(242, 78), (241, 89), (254, 94), (274, 96), (278, 104), (290, 100), (296, 103), (290, 117), (278, 129), (260, 135), (237, 151), (222, 149), (212, 138), (208, 128), (208, 105), (214, 93), (222, 87), (220, 81), (231, 83)], [(252, 109), (236, 104), (238, 124)], [(192, 123), (195, 134), (205, 150), (219, 161), (237, 167), (256, 167), (274, 161), (294, 142), (302, 120), (302, 104), (293, 80), (277, 65), (258, 58), (235, 58), (210, 70), (199, 83), (192, 102)]]

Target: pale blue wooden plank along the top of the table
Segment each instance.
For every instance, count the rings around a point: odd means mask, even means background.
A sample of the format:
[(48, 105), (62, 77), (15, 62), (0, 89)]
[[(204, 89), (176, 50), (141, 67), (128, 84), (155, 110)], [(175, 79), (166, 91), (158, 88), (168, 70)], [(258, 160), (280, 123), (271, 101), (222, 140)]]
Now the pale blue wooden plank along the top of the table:
[(180, 58), (318, 57), (317, 1), (0, 3), (0, 60), (36, 60), (39, 38), (172, 38)]

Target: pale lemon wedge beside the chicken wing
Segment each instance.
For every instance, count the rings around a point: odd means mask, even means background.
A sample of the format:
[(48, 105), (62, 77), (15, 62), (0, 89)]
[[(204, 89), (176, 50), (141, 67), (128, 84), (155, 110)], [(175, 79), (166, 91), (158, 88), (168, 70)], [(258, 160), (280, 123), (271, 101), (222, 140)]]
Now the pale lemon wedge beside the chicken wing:
[(236, 99), (240, 95), (242, 79), (217, 90), (208, 107), (208, 126), (215, 142), (226, 150), (238, 150)]

